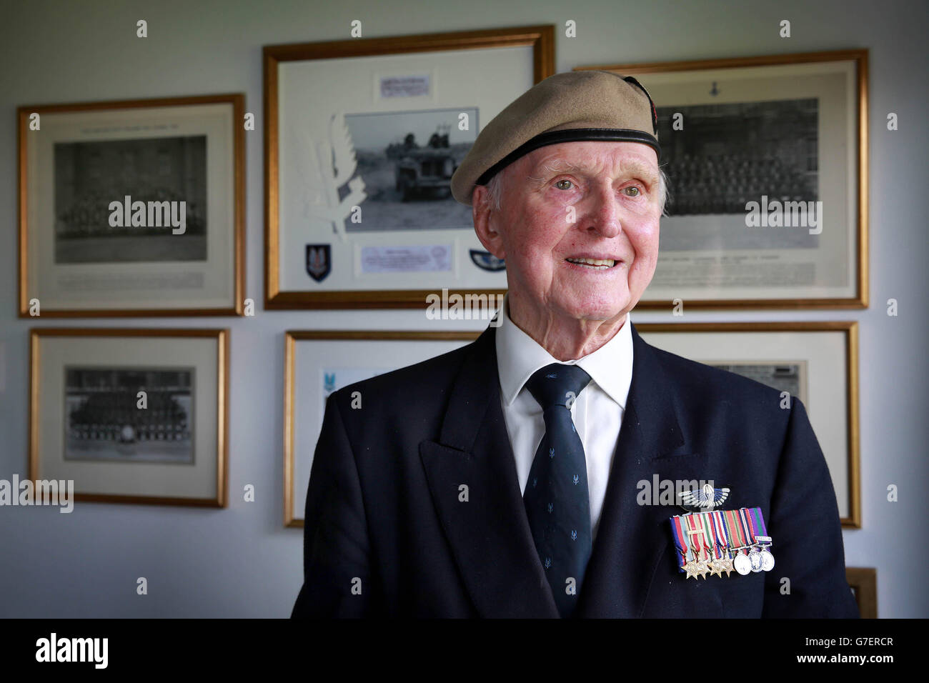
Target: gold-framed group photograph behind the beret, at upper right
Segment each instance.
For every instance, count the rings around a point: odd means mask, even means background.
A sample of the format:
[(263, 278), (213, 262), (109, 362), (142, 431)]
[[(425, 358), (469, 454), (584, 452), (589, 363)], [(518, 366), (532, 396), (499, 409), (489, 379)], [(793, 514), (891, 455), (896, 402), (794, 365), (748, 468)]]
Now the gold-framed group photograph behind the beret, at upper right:
[(669, 179), (639, 308), (868, 305), (868, 51), (618, 64)]

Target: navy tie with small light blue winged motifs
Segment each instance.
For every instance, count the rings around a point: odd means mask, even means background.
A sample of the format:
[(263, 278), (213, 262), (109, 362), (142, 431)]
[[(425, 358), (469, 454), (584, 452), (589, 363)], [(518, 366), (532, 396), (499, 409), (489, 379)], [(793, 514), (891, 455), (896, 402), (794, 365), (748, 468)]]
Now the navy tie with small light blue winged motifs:
[(526, 383), (542, 406), (545, 435), (532, 460), (523, 503), (562, 617), (577, 606), (592, 545), (587, 461), (570, 411), (589, 382), (590, 375), (577, 365), (552, 363)]

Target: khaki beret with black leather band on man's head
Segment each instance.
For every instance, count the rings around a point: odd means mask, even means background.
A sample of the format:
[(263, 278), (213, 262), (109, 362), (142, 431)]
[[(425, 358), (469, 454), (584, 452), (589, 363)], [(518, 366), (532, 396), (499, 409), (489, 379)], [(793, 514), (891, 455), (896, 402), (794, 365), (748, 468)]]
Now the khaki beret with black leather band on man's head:
[(451, 194), (471, 204), (475, 185), (545, 145), (581, 140), (658, 144), (658, 113), (632, 76), (613, 72), (556, 73), (530, 87), (480, 131), (451, 177)]

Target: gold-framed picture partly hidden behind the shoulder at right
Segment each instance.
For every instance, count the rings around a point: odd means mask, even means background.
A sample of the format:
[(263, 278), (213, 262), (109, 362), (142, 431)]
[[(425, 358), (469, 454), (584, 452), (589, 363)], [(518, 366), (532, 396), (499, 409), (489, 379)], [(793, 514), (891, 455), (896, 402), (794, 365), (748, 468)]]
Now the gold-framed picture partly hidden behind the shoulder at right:
[(649, 344), (803, 401), (846, 529), (861, 528), (857, 322), (635, 324)]

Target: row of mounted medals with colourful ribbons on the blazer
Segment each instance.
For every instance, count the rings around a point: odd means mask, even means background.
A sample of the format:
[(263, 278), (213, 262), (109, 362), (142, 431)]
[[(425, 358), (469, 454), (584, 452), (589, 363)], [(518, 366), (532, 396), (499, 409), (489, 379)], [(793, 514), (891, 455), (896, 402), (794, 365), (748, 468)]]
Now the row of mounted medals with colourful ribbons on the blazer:
[(687, 578), (722, 578), (774, 569), (765, 518), (760, 507), (674, 515), (669, 520), (678, 554), (678, 569)]

